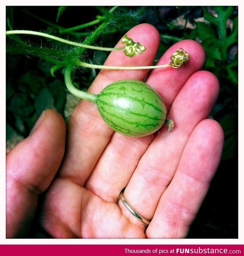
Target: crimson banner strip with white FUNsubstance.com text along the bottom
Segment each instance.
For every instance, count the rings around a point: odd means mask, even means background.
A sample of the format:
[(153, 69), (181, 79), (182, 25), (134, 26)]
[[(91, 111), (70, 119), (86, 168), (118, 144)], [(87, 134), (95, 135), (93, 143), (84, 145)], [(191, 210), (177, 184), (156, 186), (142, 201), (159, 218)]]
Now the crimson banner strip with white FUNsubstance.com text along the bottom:
[(244, 255), (244, 245), (0, 245), (8, 256)]

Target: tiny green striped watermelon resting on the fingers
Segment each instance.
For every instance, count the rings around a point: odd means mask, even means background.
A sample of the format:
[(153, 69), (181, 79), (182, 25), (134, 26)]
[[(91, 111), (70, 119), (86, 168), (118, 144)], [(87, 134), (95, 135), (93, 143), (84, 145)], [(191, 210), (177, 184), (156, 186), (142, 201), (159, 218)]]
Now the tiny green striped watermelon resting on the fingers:
[(110, 84), (101, 91), (96, 104), (101, 117), (113, 130), (133, 137), (159, 130), (167, 114), (159, 94), (137, 80)]

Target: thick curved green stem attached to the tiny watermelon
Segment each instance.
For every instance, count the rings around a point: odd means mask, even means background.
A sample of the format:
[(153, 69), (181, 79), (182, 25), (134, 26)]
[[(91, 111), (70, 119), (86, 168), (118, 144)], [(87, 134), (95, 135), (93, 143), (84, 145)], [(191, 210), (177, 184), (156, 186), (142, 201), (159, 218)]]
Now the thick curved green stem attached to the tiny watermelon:
[(72, 84), (72, 81), (71, 81), (72, 68), (73, 68), (73, 66), (66, 66), (66, 68), (64, 70), (64, 81), (65, 81), (66, 87), (69, 90), (69, 92), (71, 92), (74, 96), (76, 96), (80, 99), (89, 100), (89, 101), (96, 103), (96, 101), (98, 99), (97, 94), (83, 92), (74, 87), (74, 85)]

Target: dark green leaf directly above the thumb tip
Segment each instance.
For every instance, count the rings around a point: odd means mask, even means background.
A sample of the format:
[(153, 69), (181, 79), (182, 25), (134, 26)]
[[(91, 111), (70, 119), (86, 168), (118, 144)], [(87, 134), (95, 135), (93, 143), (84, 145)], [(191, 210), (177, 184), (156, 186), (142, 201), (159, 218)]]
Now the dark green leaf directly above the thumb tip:
[(55, 109), (54, 99), (48, 88), (42, 89), (42, 91), (35, 99), (34, 106), (38, 115), (40, 115), (45, 109)]

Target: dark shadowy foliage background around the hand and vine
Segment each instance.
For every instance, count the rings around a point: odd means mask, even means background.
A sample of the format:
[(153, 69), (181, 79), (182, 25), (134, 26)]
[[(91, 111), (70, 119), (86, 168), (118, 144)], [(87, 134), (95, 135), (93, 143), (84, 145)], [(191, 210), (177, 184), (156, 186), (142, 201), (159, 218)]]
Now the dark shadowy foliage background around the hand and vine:
[[(106, 7), (108, 8), (108, 7)], [(109, 8), (108, 8), (109, 9)], [(8, 6), (6, 29), (25, 29), (59, 35), (63, 28), (77, 26), (96, 19), (101, 10), (94, 6), (71, 6), (56, 18), (58, 6)], [(119, 38), (138, 23), (151, 23), (161, 34), (156, 58), (173, 43), (182, 39), (200, 42), (206, 51), (205, 70), (213, 72), (220, 81), (220, 95), (210, 115), (225, 131), (225, 147), (220, 166), (188, 238), (238, 238), (238, 8), (236, 6), (120, 6), (110, 31), (101, 34), (97, 45), (112, 47)], [(93, 27), (80, 34), (62, 34), (65, 39), (82, 41)], [(24, 36), (23, 41), (42, 48), (61, 49), (56, 42)], [(65, 120), (77, 104), (67, 94), (62, 70), (50, 74), (51, 63), (16, 50), (16, 42), (6, 39), (6, 151), (29, 135), (43, 109), (53, 108)], [(65, 46), (64, 51), (72, 50)], [(22, 54), (19, 54), (22, 53)], [(88, 50), (84, 59), (103, 63), (107, 53)], [(80, 89), (86, 89), (98, 71), (77, 71)], [(79, 74), (80, 72), (80, 74)]]

